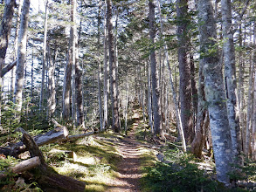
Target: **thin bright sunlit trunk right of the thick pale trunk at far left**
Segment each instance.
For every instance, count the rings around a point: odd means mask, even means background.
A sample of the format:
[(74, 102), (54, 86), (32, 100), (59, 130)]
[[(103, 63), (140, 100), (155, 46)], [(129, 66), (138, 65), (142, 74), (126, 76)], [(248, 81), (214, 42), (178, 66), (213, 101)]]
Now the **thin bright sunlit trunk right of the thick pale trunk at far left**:
[(43, 44), (43, 62), (42, 62), (42, 81), (41, 81), (41, 92), (39, 100), (39, 111), (43, 110), (44, 102), (44, 86), (45, 86), (45, 60), (46, 60), (46, 41), (47, 41), (47, 23), (48, 23), (48, 0), (45, 3), (45, 25), (44, 25), (44, 44)]

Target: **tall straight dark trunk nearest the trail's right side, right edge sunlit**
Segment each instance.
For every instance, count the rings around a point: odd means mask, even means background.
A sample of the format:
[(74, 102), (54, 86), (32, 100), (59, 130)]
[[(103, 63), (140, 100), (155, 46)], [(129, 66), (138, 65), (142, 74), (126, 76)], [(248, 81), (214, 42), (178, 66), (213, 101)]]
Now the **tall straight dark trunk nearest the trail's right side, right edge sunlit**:
[(156, 69), (156, 52), (155, 52), (155, 3), (149, 0), (149, 35), (150, 35), (150, 64), (151, 64), (151, 78), (152, 78), (152, 102), (153, 102), (153, 115), (154, 115), (154, 135), (161, 134), (161, 112), (160, 112), (160, 92), (158, 83), (158, 74)]

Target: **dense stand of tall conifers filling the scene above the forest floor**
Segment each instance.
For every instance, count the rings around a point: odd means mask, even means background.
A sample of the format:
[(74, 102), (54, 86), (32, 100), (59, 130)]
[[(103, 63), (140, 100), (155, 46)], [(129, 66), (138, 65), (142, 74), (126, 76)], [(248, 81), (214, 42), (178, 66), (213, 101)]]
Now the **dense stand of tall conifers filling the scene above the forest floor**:
[[(0, 1), (0, 123), (174, 134), (219, 182), (256, 159), (254, 1)], [(50, 125), (50, 124), (48, 124)], [(175, 131), (173, 131), (175, 130)], [(4, 146), (3, 144), (2, 147)]]

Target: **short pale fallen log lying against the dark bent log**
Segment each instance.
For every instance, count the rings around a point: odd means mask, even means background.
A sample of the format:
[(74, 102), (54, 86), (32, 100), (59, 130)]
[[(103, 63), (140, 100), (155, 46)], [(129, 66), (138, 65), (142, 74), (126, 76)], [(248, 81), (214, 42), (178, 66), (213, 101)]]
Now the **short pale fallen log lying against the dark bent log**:
[[(39, 157), (35, 156), (31, 159), (24, 160), (24, 161), (17, 163), (17, 165), (14, 167), (10, 167), (10, 171), (15, 174), (22, 173), (26, 170), (37, 167), (38, 165), (40, 165), (40, 163), (41, 163), (41, 161), (39, 160)], [(5, 176), (6, 175), (4, 174), (4, 172), (0, 172), (0, 179)]]

